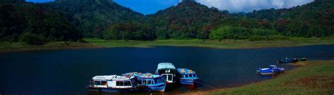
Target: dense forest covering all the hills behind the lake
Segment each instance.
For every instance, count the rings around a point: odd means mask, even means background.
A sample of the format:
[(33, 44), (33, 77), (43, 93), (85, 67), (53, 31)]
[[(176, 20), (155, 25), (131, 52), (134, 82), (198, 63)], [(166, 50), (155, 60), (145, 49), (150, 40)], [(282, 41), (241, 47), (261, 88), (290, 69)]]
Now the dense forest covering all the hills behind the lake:
[(249, 39), (333, 36), (334, 1), (229, 13), (192, 0), (142, 15), (112, 0), (0, 1), (0, 41), (43, 44), (82, 37), (123, 40)]

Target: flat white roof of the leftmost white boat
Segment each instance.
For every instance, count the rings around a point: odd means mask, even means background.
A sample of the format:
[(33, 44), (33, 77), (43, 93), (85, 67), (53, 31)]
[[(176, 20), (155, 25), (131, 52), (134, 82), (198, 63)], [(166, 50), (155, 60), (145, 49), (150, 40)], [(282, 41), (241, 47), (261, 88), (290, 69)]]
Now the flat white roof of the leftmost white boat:
[(130, 80), (134, 77), (121, 76), (121, 75), (97, 75), (92, 80)]

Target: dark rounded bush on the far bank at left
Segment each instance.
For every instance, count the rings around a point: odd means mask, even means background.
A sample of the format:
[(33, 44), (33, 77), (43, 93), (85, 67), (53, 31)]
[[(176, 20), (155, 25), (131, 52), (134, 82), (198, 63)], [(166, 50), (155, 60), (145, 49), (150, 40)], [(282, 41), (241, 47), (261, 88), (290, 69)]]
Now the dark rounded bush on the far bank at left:
[(30, 45), (42, 45), (45, 44), (47, 41), (41, 35), (23, 33), (20, 35), (20, 42), (25, 42)]

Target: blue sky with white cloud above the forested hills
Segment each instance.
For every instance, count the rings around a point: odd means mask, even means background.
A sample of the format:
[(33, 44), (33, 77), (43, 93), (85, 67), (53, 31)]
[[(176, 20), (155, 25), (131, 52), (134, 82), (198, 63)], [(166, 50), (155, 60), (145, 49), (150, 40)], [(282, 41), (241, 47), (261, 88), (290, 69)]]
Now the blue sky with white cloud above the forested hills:
[[(54, 0), (26, 0), (44, 3)], [(116, 3), (131, 8), (145, 15), (177, 5), (180, 0), (113, 0)], [(228, 10), (231, 13), (251, 12), (267, 8), (291, 8), (293, 6), (308, 4), (314, 0), (196, 0), (200, 4)]]

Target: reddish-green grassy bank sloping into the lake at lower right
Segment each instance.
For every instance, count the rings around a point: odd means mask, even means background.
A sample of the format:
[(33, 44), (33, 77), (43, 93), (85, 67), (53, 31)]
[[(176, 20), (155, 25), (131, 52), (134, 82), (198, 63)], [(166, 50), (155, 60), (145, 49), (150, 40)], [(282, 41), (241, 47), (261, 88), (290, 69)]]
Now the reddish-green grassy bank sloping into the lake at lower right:
[(334, 94), (334, 61), (309, 61), (273, 80), (194, 94)]

